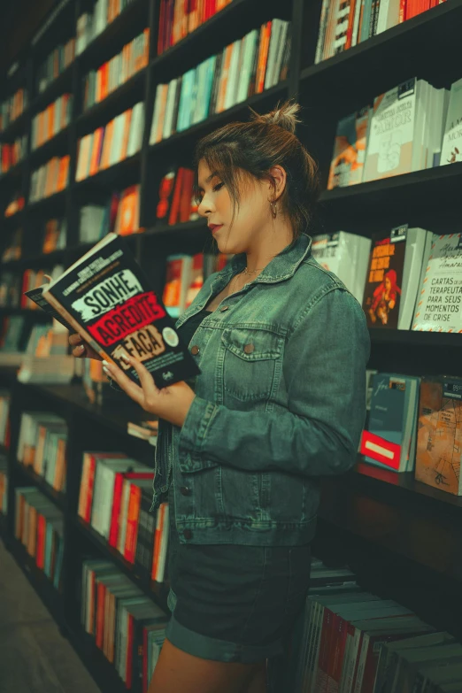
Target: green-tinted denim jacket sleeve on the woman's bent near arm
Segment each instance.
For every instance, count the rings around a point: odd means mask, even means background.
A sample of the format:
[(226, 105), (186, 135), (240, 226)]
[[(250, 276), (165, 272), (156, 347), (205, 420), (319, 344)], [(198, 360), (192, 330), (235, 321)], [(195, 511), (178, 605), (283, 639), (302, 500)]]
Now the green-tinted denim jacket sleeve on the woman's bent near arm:
[(217, 463), (253, 472), (340, 474), (356, 462), (366, 417), (370, 340), (345, 289), (324, 293), (286, 344), (284, 412), (241, 412), (196, 397), (181, 427), (182, 472)]

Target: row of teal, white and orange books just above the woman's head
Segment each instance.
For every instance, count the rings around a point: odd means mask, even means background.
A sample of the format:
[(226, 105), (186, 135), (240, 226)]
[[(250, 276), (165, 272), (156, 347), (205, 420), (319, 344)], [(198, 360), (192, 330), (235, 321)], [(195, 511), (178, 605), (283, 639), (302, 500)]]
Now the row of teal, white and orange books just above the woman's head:
[(285, 80), (289, 58), (290, 23), (273, 19), (181, 77), (158, 84), (150, 144)]

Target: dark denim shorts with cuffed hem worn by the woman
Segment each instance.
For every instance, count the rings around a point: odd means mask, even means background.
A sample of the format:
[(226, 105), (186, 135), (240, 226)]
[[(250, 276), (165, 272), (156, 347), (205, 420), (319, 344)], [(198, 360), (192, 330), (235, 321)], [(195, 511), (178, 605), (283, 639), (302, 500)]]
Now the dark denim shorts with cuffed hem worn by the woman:
[(168, 640), (221, 662), (283, 656), (304, 611), (310, 545), (204, 546), (171, 538)]

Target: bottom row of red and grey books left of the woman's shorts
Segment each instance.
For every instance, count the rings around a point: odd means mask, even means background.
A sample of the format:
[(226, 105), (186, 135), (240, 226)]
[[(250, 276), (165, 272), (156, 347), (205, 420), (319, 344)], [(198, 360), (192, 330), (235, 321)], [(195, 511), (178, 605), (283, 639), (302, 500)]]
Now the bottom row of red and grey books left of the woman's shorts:
[(166, 637), (166, 613), (111, 561), (82, 563), (81, 626), (128, 690), (147, 693)]

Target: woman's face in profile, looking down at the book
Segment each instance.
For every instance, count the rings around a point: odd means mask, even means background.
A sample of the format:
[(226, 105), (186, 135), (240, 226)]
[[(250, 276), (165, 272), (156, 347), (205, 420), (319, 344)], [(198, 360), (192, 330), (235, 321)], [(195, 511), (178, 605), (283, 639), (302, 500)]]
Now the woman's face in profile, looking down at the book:
[(259, 236), (263, 238), (266, 225), (271, 220), (270, 182), (243, 176), (234, 219), (233, 200), (225, 184), (204, 160), (199, 162), (198, 182), (202, 197), (198, 212), (207, 219), (219, 251), (248, 252), (258, 243)]

